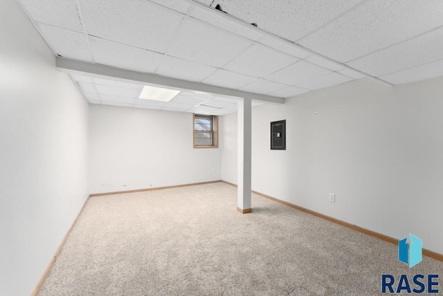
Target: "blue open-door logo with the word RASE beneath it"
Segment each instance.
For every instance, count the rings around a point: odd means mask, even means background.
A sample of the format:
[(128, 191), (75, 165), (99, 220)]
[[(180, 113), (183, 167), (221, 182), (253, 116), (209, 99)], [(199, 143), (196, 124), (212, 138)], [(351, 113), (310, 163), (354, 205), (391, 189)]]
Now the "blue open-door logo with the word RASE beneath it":
[[(414, 234), (409, 234), (408, 237), (399, 240), (399, 261), (407, 264), (409, 268), (413, 268), (418, 263), (422, 262), (422, 240), (415, 237)], [(381, 293), (439, 293), (438, 289), (438, 275), (414, 275), (412, 283), (407, 275), (401, 275), (396, 281), (393, 275), (381, 275)], [(411, 285), (413, 285), (411, 289)]]

